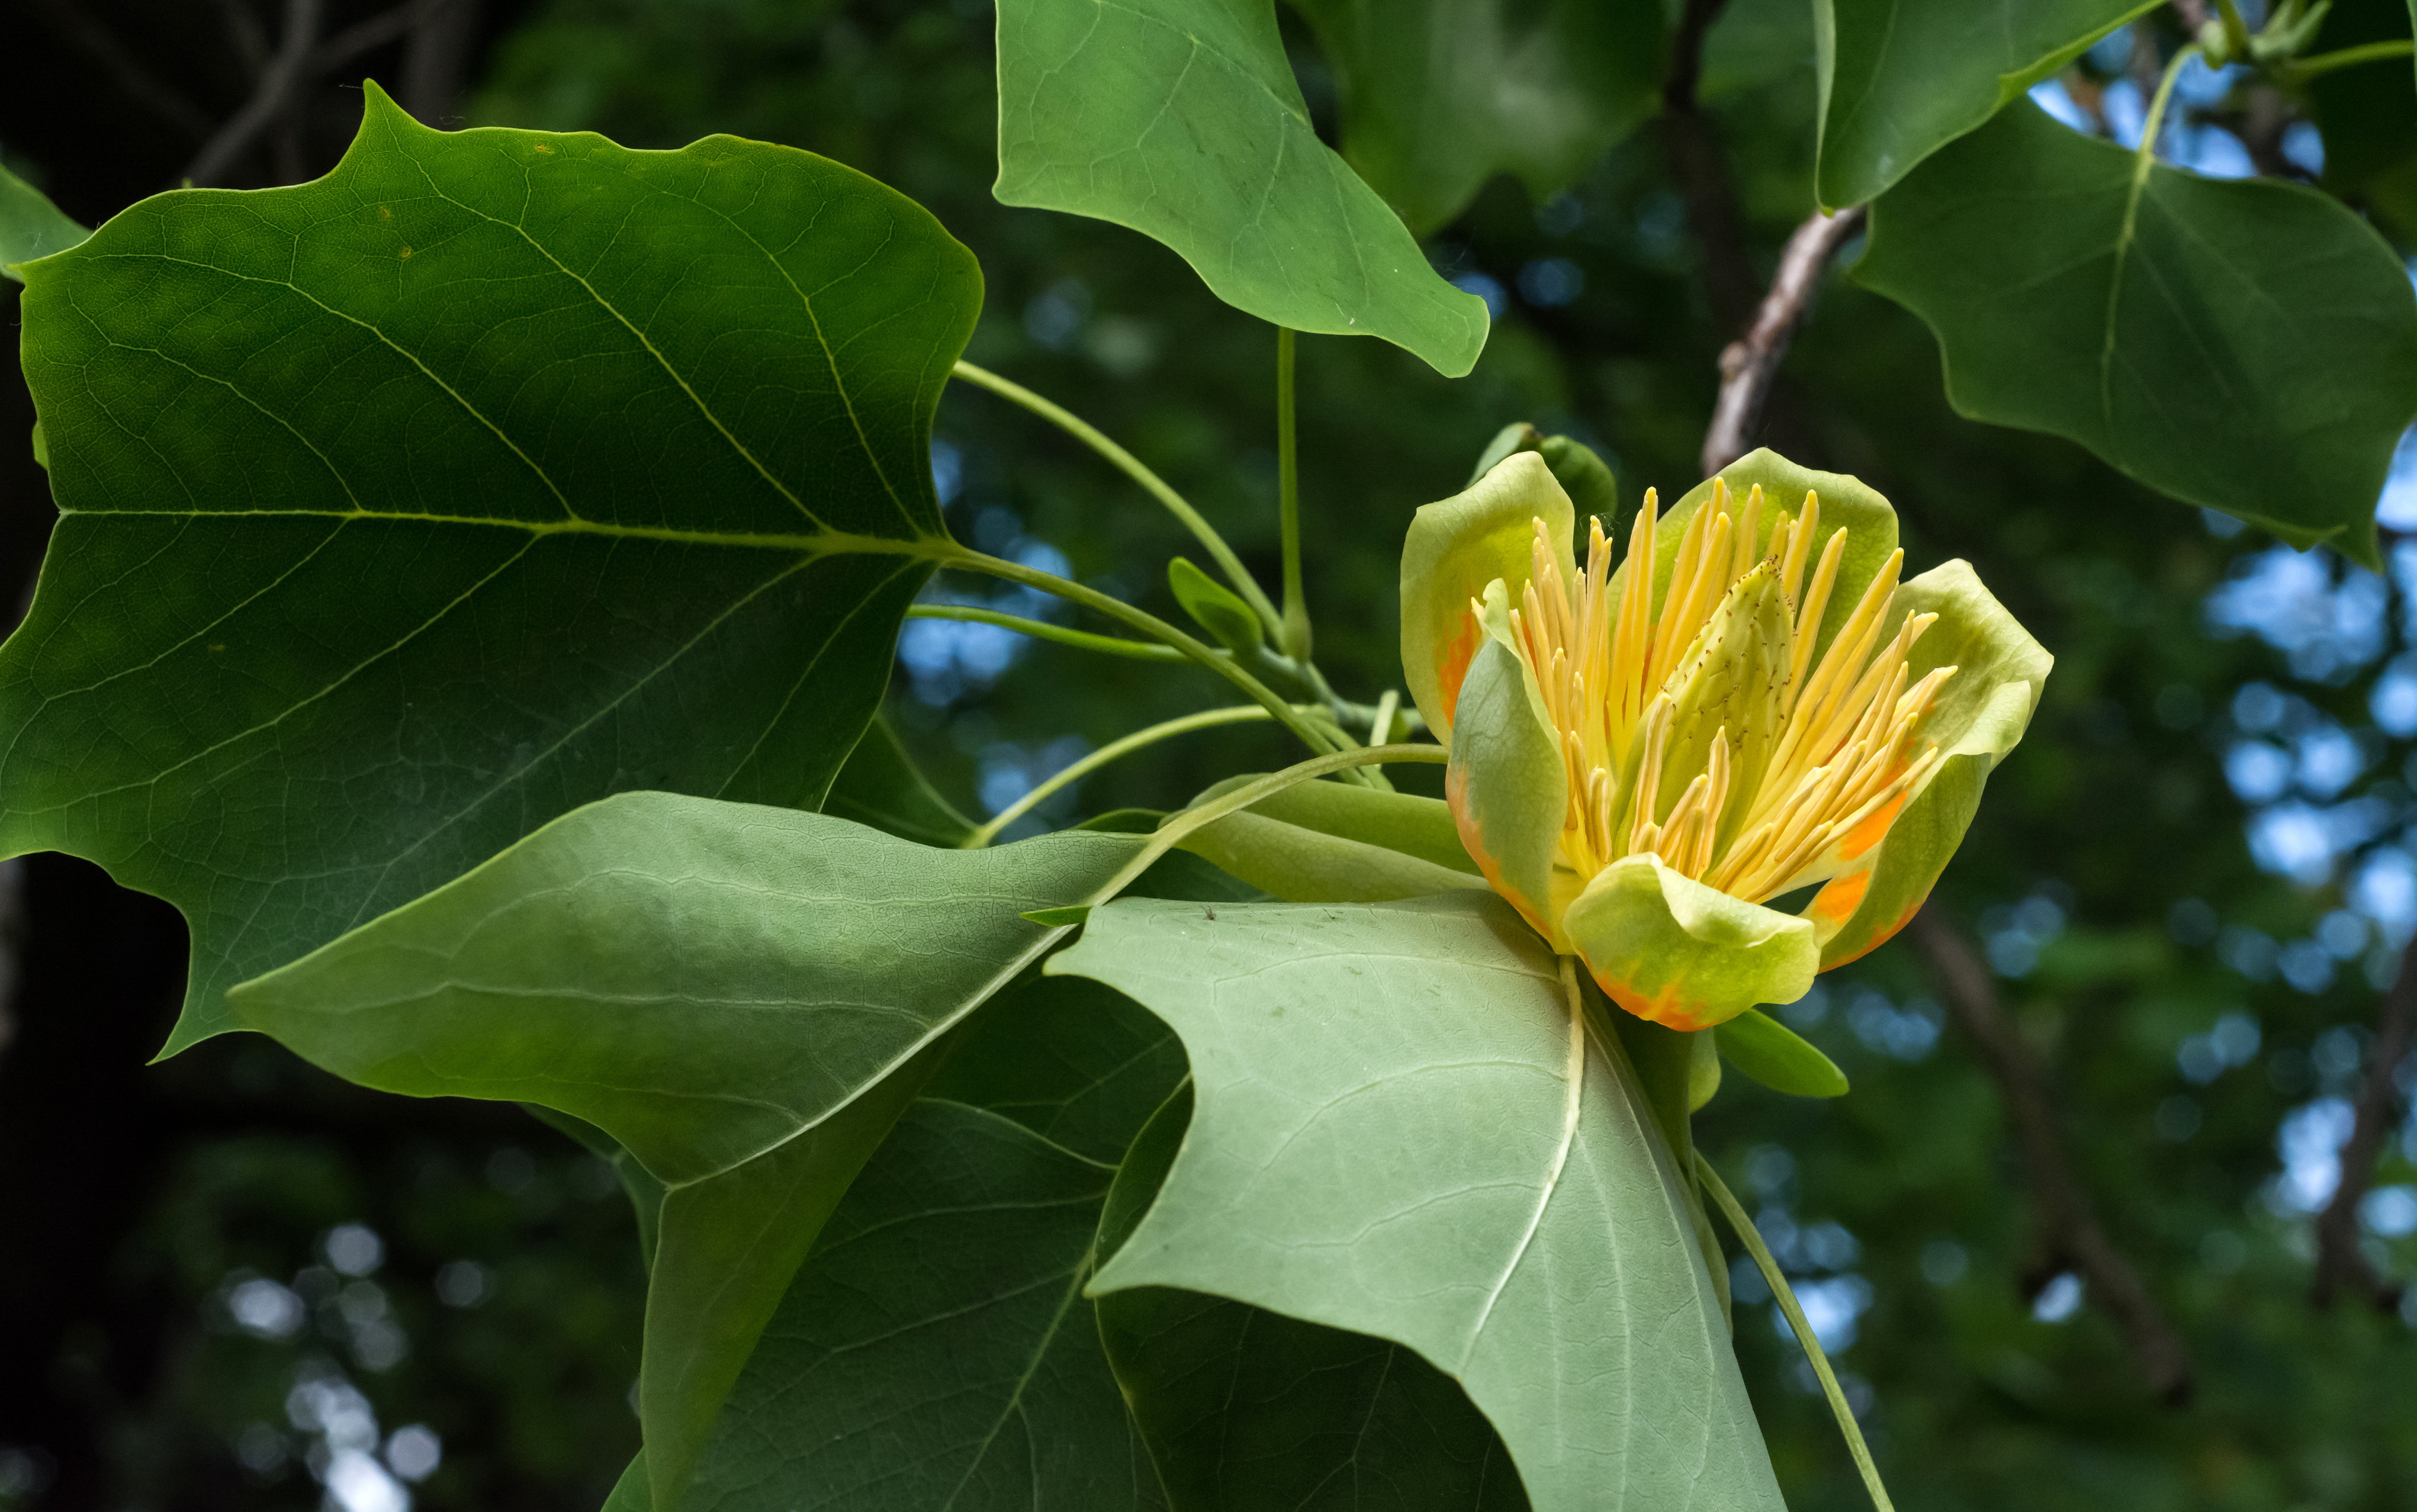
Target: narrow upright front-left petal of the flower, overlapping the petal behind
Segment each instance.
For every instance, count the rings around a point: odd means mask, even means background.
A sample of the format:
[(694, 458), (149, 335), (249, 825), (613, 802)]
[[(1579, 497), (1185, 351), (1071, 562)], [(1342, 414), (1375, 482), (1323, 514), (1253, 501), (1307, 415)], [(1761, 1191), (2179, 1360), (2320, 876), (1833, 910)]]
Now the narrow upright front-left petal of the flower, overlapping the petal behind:
[[(1501, 592), (1494, 587), (1489, 594), (1496, 611)], [(1554, 949), (1566, 949), (1554, 920), (1552, 874), (1569, 812), (1569, 770), (1544, 720), (1535, 674), (1508, 645), (1486, 635), (1460, 684), (1460, 713), (1453, 761), (1443, 768), (1460, 843), (1494, 891)]]

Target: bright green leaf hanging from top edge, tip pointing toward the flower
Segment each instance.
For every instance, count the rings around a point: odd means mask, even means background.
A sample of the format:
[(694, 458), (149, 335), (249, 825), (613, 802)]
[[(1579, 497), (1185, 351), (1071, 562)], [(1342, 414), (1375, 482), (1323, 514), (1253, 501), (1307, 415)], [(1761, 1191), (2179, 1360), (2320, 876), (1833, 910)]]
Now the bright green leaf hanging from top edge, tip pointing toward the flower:
[(993, 193), (1131, 227), (1238, 309), (1445, 377), (1486, 343), (1486, 302), (1317, 140), (1274, 0), (1003, 0)]

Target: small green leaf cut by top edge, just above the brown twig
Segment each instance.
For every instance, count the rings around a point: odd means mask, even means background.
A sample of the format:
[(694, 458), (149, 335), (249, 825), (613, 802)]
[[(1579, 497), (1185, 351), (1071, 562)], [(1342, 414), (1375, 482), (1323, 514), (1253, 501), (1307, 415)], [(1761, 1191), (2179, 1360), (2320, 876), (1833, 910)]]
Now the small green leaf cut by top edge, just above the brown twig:
[(1861, 205), (2161, 0), (1813, 0), (1822, 205)]

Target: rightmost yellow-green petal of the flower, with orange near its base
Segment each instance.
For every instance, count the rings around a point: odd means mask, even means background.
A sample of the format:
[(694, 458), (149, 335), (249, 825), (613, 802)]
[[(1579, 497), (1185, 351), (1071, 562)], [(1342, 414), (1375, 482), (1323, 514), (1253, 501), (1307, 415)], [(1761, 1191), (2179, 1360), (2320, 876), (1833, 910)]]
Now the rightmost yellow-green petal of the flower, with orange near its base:
[(1905, 804), (1868, 855), (1847, 857), (1805, 911), (1822, 937), (1822, 971), (1885, 944), (1929, 899), (1948, 857), (1963, 845), (1989, 773), (2023, 739), (2054, 657), (1999, 604), (1970, 563), (1941, 563), (1897, 589), (1890, 616), (1936, 613), (1914, 642), (1907, 676), (1955, 667), (1924, 734), (1946, 761)]

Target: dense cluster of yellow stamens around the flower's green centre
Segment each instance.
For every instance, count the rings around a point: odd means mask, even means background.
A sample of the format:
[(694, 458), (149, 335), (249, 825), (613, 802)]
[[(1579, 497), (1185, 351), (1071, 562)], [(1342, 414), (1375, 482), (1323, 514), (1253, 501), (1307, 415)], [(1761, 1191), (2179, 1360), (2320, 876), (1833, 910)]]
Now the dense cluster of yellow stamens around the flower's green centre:
[[(1837, 874), (1941, 761), (1924, 715), (1955, 674), (1907, 686), (1907, 655), (1934, 613), (1905, 613), (1883, 642), (1905, 553), (1888, 558), (1813, 664), (1847, 531), (1810, 565), (1820, 500), (1762, 527), (1762, 488), (1731, 512), (1726, 483), (1694, 512), (1653, 609), (1656, 495), (1629, 531), (1624, 592), (1607, 594), (1612, 548), (1595, 519), (1586, 568), (1561, 582), (1544, 522), (1511, 633), (1561, 739), (1569, 814), (1561, 857), (1583, 884), (1624, 855), (1653, 853), (1694, 879), (1760, 903)], [(1706, 696), (1704, 679), (1718, 696)], [(1702, 725), (1714, 722), (1709, 742)], [(1702, 768), (1675, 799), (1675, 763)]]

